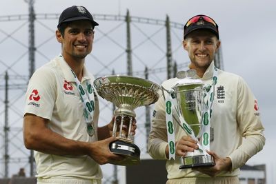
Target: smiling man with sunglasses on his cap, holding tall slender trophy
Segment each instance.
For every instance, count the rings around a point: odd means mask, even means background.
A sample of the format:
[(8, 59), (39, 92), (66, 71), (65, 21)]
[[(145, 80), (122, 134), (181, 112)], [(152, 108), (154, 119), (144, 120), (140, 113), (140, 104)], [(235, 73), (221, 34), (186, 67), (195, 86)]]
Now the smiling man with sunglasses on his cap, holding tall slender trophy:
[[(207, 152), (213, 156), (215, 165), (179, 169), (181, 156), (199, 149), (197, 141), (202, 145), (202, 139), (188, 136), (179, 126), (178, 118), (172, 120), (175, 132), (167, 132), (164, 101), (167, 92), (155, 103), (148, 152), (153, 159), (167, 160), (167, 184), (239, 183), (239, 167), (261, 151), (265, 143), (257, 100), (241, 76), (215, 68), (214, 57), (220, 41), (219, 28), (213, 19), (204, 14), (190, 18), (184, 26), (183, 46), (190, 58), (189, 68), (196, 71), (193, 77), (210, 87), (206, 92), (211, 114), (206, 145), (210, 142)], [(177, 78), (168, 79), (162, 86), (169, 90), (177, 81)], [(172, 114), (177, 117), (175, 110)]]

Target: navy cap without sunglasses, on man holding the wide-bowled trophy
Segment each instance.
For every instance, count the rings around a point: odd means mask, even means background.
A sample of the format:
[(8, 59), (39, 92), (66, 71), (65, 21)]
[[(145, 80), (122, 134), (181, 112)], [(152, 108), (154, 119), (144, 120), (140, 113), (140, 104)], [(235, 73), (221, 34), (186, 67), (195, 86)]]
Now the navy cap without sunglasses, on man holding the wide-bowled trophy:
[(92, 15), (84, 6), (71, 6), (61, 12), (57, 28), (59, 28), (61, 23), (79, 20), (88, 20), (91, 21), (92, 25), (94, 26), (99, 25), (99, 23), (94, 21)]

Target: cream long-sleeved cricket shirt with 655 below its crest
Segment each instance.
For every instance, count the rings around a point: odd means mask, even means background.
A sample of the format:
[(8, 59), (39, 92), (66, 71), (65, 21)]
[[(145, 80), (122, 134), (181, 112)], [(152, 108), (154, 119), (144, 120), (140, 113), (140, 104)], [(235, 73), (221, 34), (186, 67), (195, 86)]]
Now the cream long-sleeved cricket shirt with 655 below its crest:
[[(204, 84), (212, 83), (213, 67), (214, 62), (201, 78)], [(177, 80), (179, 79), (168, 79), (162, 86), (170, 89)], [(174, 124), (175, 141), (178, 141), (186, 132), (181, 130), (177, 123)], [(219, 176), (237, 176), (239, 167), (264, 147), (264, 127), (259, 116), (257, 100), (244, 79), (236, 74), (218, 70), (210, 125), (214, 128), (214, 141), (210, 142), (210, 150), (221, 157), (228, 156), (232, 161), (233, 172), (221, 172)], [(165, 102), (164, 96), (161, 96), (155, 103), (148, 152), (154, 159), (166, 159), (167, 145)], [(168, 178), (208, 177), (190, 169), (179, 170), (179, 166), (179, 156), (175, 161), (167, 161)]]

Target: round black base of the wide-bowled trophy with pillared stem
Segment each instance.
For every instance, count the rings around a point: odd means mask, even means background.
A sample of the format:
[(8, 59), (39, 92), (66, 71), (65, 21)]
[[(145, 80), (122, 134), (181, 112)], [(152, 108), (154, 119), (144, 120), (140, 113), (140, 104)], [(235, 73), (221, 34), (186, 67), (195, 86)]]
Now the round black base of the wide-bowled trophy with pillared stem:
[(114, 141), (109, 145), (110, 152), (120, 154), (125, 157), (122, 161), (113, 161), (115, 165), (138, 165), (140, 163), (140, 149), (133, 143), (124, 141)]

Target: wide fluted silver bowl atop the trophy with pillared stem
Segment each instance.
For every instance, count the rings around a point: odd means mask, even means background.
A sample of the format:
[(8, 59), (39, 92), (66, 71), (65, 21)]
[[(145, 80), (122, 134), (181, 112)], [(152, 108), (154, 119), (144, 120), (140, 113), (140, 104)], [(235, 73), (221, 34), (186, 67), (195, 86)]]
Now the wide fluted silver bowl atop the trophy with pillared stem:
[(94, 86), (99, 96), (114, 103), (118, 108), (135, 109), (150, 105), (161, 96), (159, 85), (135, 76), (103, 76), (95, 79)]

